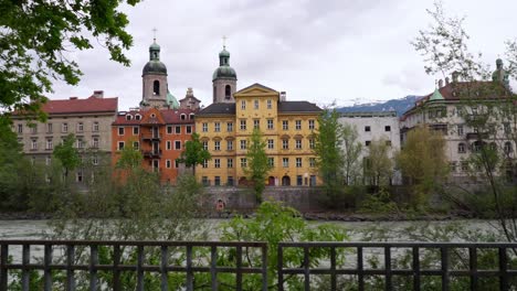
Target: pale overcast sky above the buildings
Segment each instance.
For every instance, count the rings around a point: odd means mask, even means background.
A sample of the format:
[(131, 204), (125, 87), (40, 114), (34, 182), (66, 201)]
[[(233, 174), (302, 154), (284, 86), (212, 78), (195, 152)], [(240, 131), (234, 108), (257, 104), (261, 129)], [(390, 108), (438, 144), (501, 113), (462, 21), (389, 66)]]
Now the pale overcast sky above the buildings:
[[(208, 106), (212, 73), (226, 35), (238, 89), (261, 83), (289, 100), (318, 105), (368, 103), (424, 95), (440, 76), (428, 76), (410, 42), (431, 19), (432, 0), (145, 0), (125, 8), (134, 36), (131, 66), (110, 62), (104, 48), (75, 53), (78, 86), (56, 83), (51, 98), (88, 97), (95, 89), (118, 97), (119, 110), (141, 100), (141, 69), (152, 28), (167, 65), (169, 89), (188, 87)], [(444, 0), (450, 15), (465, 15), (469, 48), (495, 66), (504, 41), (517, 37), (515, 0)]]

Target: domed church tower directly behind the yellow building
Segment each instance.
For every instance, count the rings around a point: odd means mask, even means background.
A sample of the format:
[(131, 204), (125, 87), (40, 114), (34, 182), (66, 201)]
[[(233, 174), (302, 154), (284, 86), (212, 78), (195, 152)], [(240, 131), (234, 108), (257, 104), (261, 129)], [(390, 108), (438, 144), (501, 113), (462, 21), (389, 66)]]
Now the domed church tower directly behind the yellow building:
[(213, 72), (213, 103), (235, 103), (233, 94), (236, 90), (235, 69), (230, 66), (230, 52), (226, 45), (219, 53), (219, 67)]

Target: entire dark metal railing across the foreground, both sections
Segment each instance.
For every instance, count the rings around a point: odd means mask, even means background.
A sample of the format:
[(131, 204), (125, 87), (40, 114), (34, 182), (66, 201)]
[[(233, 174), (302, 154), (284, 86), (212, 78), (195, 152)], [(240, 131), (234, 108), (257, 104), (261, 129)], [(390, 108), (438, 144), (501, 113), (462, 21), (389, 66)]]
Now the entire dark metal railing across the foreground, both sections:
[[(133, 252), (134, 260), (127, 261), (127, 249)], [(205, 257), (201, 261), (194, 258), (197, 248), (207, 249)], [(14, 250), (20, 250), (15, 254)], [(260, 265), (253, 266), (243, 261), (247, 251), (253, 249), (258, 254)], [(402, 257), (400, 250), (404, 249), (410, 257), (403, 267), (398, 262)], [(155, 250), (155, 260), (146, 257), (149, 250)], [(181, 251), (178, 251), (181, 250)], [(319, 263), (312, 261), (312, 251), (325, 250), (328, 255)], [(374, 251), (373, 251), (374, 250)], [(368, 287), (369, 277), (382, 278), (383, 290), (397, 290), (395, 278), (411, 279), (409, 289), (424, 290), (423, 281), (430, 277), (439, 279), (437, 290), (450, 290), (453, 281), (458, 278), (468, 280), (462, 290), (487, 290), (481, 280), (497, 279), (498, 290), (516, 290), (517, 278), (517, 244), (469, 244), (469, 242), (281, 242), (276, 250), (277, 266), (274, 270), (277, 274), (277, 290), (286, 289), (292, 277), (299, 277), (304, 290), (314, 288), (314, 277), (325, 276), (329, 278), (328, 289), (341, 290), (340, 278), (346, 277), (347, 284), (355, 284), (357, 290), (371, 290)], [(105, 251), (109, 251), (110, 261), (106, 261)], [(233, 251), (234, 265), (219, 266), (218, 256), (222, 252)], [(194, 289), (198, 273), (210, 274), (210, 285), (207, 289), (220, 290), (218, 274), (231, 273), (235, 278), (231, 289), (243, 289), (243, 274), (260, 276), (261, 289), (268, 290), (267, 278), (267, 244), (242, 241), (92, 241), (92, 240), (0, 240), (0, 290), (8, 290), (12, 280), (12, 273), (19, 272), (22, 290), (30, 290), (31, 272), (40, 272), (43, 290), (52, 290), (56, 280), (61, 280), (61, 288), (76, 290), (76, 277), (83, 272), (87, 278), (89, 290), (106, 289), (122, 290), (123, 273), (134, 274), (136, 290), (144, 290), (146, 274), (152, 273), (159, 278), (160, 289), (169, 290), (170, 273), (184, 274), (186, 290)], [(302, 255), (300, 263), (293, 266), (287, 259), (287, 252), (295, 251)], [(423, 254), (434, 251), (439, 263), (429, 267)], [(481, 255), (486, 251), (494, 254), (492, 267), (487, 269), (485, 262), (479, 261)], [(36, 254), (38, 252), (38, 254)], [(59, 254), (61, 252), (61, 254)], [(78, 258), (78, 252), (83, 259)], [(462, 268), (455, 265), (454, 256), (464, 255)], [(173, 263), (170, 258), (178, 258), (183, 263)], [(289, 252), (293, 254), (293, 252)], [(18, 260), (10, 255), (17, 255)], [(31, 257), (32, 255), (32, 257)], [(340, 258), (346, 256), (346, 261), (355, 266), (344, 265)], [(371, 256), (380, 260), (379, 266), (372, 266)], [(34, 259), (39, 257), (41, 259)], [(84, 260), (86, 258), (86, 260)], [(271, 270), (270, 270), (271, 271)], [(62, 278), (56, 279), (61, 272)], [(108, 272), (109, 280), (101, 280), (101, 272)], [(348, 277), (347, 277), (348, 276)], [(351, 280), (350, 277), (355, 279)], [(232, 277), (233, 278), (233, 277)], [(271, 278), (270, 278), (271, 279)], [(341, 280), (342, 281), (342, 280)], [(351, 282), (354, 281), (354, 282)], [(271, 281), (270, 281), (271, 283)], [(405, 285), (408, 288), (408, 285)], [(289, 289), (289, 288), (287, 288)], [(293, 287), (291, 287), (293, 289)], [(203, 289), (204, 290), (204, 289)], [(490, 289), (494, 290), (494, 289)]]

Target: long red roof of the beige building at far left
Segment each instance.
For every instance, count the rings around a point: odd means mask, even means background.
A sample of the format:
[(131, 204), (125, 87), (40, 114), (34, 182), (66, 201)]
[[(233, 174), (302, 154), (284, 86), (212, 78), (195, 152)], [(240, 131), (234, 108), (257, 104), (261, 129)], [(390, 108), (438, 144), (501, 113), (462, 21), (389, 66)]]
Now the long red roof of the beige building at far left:
[(118, 108), (118, 97), (97, 98), (88, 97), (78, 99), (71, 97), (70, 99), (49, 100), (43, 105), (43, 111), (50, 115), (65, 114), (94, 114), (94, 112), (116, 112)]

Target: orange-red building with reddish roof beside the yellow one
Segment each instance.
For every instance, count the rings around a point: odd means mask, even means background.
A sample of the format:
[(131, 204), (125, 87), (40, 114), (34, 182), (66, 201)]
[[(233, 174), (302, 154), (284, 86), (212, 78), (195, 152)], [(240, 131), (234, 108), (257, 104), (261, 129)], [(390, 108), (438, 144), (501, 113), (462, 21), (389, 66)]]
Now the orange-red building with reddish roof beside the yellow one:
[(120, 150), (133, 144), (144, 155), (144, 168), (159, 172), (160, 180), (176, 183), (184, 170), (177, 159), (194, 132), (192, 109), (120, 111), (112, 126), (112, 157), (115, 165)]

